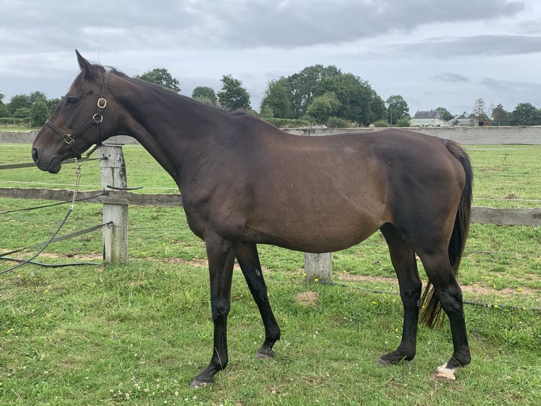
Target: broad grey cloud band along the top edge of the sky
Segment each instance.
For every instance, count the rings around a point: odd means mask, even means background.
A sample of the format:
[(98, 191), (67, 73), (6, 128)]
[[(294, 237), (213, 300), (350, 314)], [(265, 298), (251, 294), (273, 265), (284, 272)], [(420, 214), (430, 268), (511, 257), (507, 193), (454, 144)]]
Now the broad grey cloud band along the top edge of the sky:
[[(23, 35), (36, 50), (109, 45), (119, 50), (201, 46), (293, 49), (337, 44), (425, 23), (513, 16), (523, 1), (485, 0), (141, 0), (100, 3), (11, 0), (2, 4), (6, 33), (0, 50)], [(467, 12), (464, 12), (467, 10)], [(122, 27), (123, 30), (114, 30)]]

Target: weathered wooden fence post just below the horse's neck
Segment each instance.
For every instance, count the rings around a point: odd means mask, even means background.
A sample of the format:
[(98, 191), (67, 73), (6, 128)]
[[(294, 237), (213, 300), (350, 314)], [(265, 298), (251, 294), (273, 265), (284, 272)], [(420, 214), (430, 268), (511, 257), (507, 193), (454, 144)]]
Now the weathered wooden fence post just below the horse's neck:
[[(104, 144), (100, 174), (105, 191), (111, 187), (126, 187), (126, 164), (119, 144)], [(128, 261), (128, 205), (103, 204), (103, 223), (112, 221), (112, 226), (103, 227), (103, 260), (114, 264)]]

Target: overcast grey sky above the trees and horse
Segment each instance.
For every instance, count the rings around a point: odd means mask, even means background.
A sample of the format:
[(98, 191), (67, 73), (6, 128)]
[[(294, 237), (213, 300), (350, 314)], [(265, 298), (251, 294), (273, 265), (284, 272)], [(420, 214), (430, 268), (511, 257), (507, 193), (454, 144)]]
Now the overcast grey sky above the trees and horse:
[(0, 0), (0, 93), (61, 97), (84, 57), (133, 76), (165, 68), (181, 93), (267, 82), (314, 64), (417, 110), (472, 112), (477, 98), (541, 108), (539, 0)]

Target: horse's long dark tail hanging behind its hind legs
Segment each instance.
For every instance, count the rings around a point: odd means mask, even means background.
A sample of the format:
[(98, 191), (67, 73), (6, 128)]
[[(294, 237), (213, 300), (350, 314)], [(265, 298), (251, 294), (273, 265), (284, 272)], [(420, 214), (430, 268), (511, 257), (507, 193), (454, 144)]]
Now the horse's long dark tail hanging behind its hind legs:
[[(456, 142), (445, 139), (444, 144), (448, 151), (462, 163), (466, 178), (448, 247), (449, 262), (451, 262), (451, 267), (456, 275), (458, 274), (458, 267), (460, 266), (460, 260), (462, 260), (466, 239), (470, 231), (473, 171), (468, 154)], [(438, 295), (434, 291), (434, 286), (430, 282), (428, 282), (427, 288), (424, 289), (420, 306), (420, 323), (430, 328), (440, 327), (443, 324), (444, 313), (442, 312)]]

